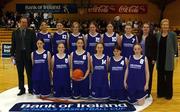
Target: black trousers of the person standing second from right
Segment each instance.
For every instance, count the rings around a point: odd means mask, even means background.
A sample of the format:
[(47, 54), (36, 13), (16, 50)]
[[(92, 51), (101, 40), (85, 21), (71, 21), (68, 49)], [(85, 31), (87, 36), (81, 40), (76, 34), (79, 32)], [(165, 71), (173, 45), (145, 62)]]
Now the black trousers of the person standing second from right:
[(152, 59), (148, 59), (148, 65), (149, 65), (149, 89), (148, 89), (148, 94), (151, 94), (151, 89), (152, 89), (152, 79), (153, 79), (153, 69), (154, 69), (154, 64), (152, 63)]

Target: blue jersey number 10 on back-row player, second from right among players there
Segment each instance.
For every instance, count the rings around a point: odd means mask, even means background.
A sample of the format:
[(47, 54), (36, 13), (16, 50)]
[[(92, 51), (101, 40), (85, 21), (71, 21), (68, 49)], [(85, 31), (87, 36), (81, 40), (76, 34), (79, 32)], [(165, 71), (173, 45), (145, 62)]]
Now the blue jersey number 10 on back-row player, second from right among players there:
[(103, 42), (104, 42), (104, 54), (111, 57), (113, 55), (114, 46), (117, 43), (117, 34), (113, 33), (112, 36), (108, 36), (108, 34), (105, 33), (103, 36)]

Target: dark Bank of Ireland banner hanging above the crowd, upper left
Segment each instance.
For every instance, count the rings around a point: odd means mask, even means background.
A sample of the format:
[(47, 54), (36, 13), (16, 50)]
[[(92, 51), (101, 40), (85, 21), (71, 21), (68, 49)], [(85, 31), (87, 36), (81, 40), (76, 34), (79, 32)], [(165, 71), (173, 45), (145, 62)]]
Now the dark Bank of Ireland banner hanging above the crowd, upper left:
[(16, 4), (17, 12), (77, 13), (76, 4)]

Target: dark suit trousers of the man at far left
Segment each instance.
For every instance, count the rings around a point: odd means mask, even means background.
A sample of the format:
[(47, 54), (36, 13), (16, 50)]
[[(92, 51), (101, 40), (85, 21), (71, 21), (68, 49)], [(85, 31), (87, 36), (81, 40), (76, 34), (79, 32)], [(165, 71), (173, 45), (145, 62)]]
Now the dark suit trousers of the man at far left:
[(18, 84), (21, 91), (25, 91), (24, 88), (24, 68), (26, 69), (28, 89), (32, 91), (31, 84), (31, 73), (32, 73), (32, 62), (31, 59), (27, 59), (26, 52), (21, 52), (21, 60), (16, 61), (17, 72), (18, 72)]

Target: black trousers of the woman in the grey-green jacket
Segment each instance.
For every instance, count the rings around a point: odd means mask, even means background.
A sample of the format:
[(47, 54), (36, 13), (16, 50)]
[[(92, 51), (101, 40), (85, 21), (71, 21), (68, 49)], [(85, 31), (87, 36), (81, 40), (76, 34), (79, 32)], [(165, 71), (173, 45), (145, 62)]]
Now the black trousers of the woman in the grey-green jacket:
[(157, 97), (171, 99), (173, 96), (173, 71), (158, 70)]

